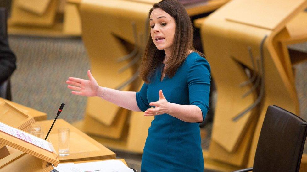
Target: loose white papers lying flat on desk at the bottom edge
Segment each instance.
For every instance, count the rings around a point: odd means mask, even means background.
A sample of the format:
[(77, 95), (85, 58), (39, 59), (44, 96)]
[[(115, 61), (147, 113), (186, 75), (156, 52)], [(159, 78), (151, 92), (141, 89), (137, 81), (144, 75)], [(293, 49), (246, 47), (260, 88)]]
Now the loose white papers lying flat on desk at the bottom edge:
[(105, 160), (88, 163), (60, 163), (54, 168), (59, 172), (133, 172), (120, 160)]

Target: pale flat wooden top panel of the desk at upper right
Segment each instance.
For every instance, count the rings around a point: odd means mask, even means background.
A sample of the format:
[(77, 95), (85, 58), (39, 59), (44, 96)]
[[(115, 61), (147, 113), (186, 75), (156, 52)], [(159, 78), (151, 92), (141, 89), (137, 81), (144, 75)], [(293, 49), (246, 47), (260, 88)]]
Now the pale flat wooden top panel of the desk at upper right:
[[(228, 4), (236, 9), (226, 14), (226, 20), (269, 30), (280, 30), (293, 12), (304, 9), (304, 0), (267, 1), (236, 0)], [(302, 9), (303, 8), (303, 9)], [(259, 11), (261, 9), (261, 13)], [(268, 15), (269, 14), (269, 15)]]

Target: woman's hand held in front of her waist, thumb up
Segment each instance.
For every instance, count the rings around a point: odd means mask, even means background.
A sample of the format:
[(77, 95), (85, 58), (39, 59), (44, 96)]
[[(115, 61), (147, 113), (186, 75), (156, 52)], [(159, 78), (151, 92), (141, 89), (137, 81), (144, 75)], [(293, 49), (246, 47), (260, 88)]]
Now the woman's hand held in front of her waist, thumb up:
[(144, 113), (144, 116), (154, 116), (161, 115), (164, 113), (169, 113), (170, 102), (165, 99), (162, 90), (159, 91), (159, 101), (149, 103), (150, 106), (155, 106), (155, 108), (149, 108)]

